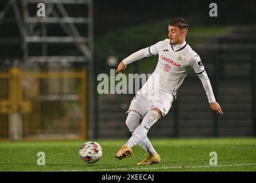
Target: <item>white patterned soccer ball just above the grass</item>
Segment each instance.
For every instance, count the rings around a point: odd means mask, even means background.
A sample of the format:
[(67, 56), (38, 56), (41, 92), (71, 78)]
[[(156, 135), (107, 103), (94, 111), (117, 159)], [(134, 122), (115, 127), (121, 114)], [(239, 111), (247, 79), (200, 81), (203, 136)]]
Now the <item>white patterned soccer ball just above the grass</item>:
[(86, 142), (79, 149), (80, 158), (92, 164), (102, 157), (102, 147), (97, 142)]

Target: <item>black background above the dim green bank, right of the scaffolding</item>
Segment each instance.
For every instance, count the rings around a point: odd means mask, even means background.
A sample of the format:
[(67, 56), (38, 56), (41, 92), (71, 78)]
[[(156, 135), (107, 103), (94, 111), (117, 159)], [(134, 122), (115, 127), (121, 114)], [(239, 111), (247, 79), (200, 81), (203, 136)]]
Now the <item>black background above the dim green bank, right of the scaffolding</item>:
[[(209, 16), (210, 3), (218, 5), (218, 17)], [(255, 23), (255, 1), (94, 1), (95, 37), (121, 27), (172, 17), (184, 18), (193, 25), (239, 26)]]

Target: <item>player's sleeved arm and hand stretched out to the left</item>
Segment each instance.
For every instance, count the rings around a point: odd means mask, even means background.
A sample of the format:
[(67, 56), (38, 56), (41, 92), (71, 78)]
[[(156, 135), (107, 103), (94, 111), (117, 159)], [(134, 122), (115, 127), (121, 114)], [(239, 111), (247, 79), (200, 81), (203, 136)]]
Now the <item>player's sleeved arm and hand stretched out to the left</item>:
[[(161, 41), (160, 41), (161, 42)], [(157, 55), (158, 54), (158, 46), (160, 44), (160, 42), (156, 43), (155, 45), (146, 47), (144, 49), (138, 50), (135, 53), (129, 55), (129, 57), (126, 57), (125, 59), (123, 59), (118, 67), (117, 70), (115, 70), (115, 73), (122, 73), (123, 70), (126, 69), (126, 65), (128, 65), (131, 62), (137, 61), (139, 59), (142, 59), (144, 57), (150, 57), (152, 55)]]

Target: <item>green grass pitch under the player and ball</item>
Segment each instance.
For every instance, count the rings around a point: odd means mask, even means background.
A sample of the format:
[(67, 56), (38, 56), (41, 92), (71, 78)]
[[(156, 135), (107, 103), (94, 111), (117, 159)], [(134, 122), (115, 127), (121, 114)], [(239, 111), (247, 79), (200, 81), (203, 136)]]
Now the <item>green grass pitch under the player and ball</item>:
[[(256, 138), (153, 139), (161, 164), (138, 166), (145, 152), (137, 145), (133, 155), (114, 158), (125, 140), (94, 140), (103, 148), (102, 158), (86, 164), (78, 155), (86, 141), (0, 142), (0, 171), (255, 171)], [(45, 153), (45, 165), (37, 165), (37, 153)], [(210, 152), (218, 154), (211, 166)]]

